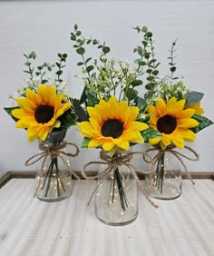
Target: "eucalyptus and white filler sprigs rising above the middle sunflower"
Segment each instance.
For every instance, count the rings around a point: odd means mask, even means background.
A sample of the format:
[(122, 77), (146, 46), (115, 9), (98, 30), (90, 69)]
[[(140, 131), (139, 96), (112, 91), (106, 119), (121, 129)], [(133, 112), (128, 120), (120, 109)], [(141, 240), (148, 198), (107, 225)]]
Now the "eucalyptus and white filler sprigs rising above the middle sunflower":
[[(84, 88), (80, 104), (94, 106), (101, 98), (108, 100), (111, 95), (116, 94), (119, 101), (127, 100), (134, 104), (139, 102), (135, 87), (141, 85), (142, 81), (138, 78), (139, 71), (135, 67), (128, 62), (109, 58), (107, 54), (110, 53), (111, 48), (105, 43), (101, 44), (96, 38), (88, 39), (83, 36), (78, 25), (74, 25), (70, 38), (75, 53), (82, 57), (82, 61), (77, 63), (78, 66), (83, 67)], [(89, 44), (95, 46), (98, 56), (86, 57)]]

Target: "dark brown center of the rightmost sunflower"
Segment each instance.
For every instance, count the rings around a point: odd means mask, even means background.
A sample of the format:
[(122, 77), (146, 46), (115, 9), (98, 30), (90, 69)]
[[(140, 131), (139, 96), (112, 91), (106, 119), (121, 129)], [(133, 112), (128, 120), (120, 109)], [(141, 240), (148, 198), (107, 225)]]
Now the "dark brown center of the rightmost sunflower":
[(166, 114), (160, 117), (157, 123), (158, 131), (160, 133), (166, 133), (166, 134), (172, 133), (175, 130), (176, 126), (177, 126), (176, 119), (169, 114)]

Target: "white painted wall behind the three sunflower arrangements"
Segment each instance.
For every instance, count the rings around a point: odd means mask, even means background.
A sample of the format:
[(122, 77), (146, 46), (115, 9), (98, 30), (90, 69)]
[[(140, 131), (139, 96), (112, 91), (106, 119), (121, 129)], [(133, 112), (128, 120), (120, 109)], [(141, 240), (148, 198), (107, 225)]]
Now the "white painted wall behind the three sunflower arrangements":
[[(168, 72), (170, 44), (177, 37), (178, 74), (195, 91), (205, 94), (202, 101), (206, 116), (214, 120), (214, 2), (209, 1), (0, 1), (0, 171), (34, 170), (25, 160), (37, 153), (36, 143), (28, 143), (26, 133), (3, 107), (10, 106), (13, 94), (26, 78), (23, 53), (34, 50), (40, 63), (53, 62), (59, 52), (67, 52), (70, 61), (65, 80), (74, 96), (82, 91), (80, 78), (73, 74), (77, 56), (73, 54), (70, 32), (80, 25), (84, 34), (98, 37), (112, 46), (112, 55), (132, 61), (132, 48), (139, 35), (131, 29), (147, 25), (155, 34), (161, 72)], [(191, 172), (214, 172), (214, 125), (197, 135), (190, 146), (200, 155), (199, 162), (186, 162)], [(81, 145), (82, 138), (72, 129), (68, 140)], [(138, 146), (142, 148), (142, 146)], [(73, 170), (96, 158), (98, 150), (82, 150), (73, 159)]]

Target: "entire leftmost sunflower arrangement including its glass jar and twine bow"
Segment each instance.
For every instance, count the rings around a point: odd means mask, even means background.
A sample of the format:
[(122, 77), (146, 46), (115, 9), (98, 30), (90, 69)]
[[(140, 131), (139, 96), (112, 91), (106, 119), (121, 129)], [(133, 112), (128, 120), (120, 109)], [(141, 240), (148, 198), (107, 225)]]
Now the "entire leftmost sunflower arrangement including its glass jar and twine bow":
[[(43, 201), (59, 201), (71, 194), (72, 173), (68, 160), (63, 156), (75, 156), (79, 153), (73, 143), (64, 141), (67, 129), (76, 124), (76, 114), (73, 109), (73, 99), (66, 92), (63, 82), (63, 67), (67, 54), (58, 54), (55, 64), (44, 63), (34, 67), (32, 61), (36, 54), (24, 54), (27, 67), (24, 73), (29, 74), (22, 88), (14, 95), (15, 106), (5, 107), (5, 111), (15, 120), (17, 128), (26, 130), (29, 142), (38, 139), (41, 153), (30, 157), (25, 165), (41, 162), (36, 175), (37, 197)], [(47, 74), (56, 67), (55, 77)], [(73, 145), (75, 153), (65, 153), (67, 144)]]

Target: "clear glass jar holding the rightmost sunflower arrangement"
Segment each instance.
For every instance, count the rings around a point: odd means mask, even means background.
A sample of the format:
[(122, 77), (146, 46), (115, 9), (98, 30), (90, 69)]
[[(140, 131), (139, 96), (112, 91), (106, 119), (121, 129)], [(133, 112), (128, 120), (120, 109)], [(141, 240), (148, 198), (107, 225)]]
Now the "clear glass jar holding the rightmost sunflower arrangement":
[(154, 172), (145, 175), (145, 190), (149, 196), (157, 199), (178, 198), (182, 191), (179, 161), (170, 151), (157, 151), (152, 155)]

